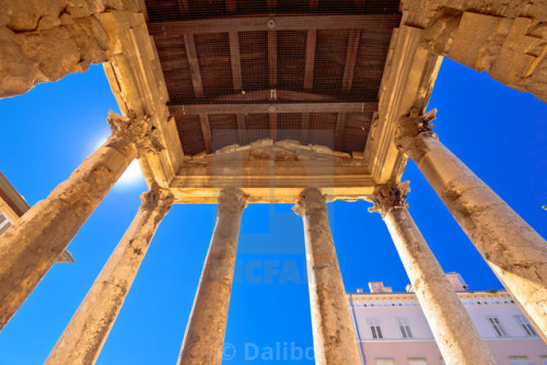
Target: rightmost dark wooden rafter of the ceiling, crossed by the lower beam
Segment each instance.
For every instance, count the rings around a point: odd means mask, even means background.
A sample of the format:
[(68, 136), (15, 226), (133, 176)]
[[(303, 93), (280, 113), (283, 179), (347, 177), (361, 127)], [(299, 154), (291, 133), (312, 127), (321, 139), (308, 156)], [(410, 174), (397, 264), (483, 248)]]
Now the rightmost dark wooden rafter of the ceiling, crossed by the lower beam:
[[(344, 78), (341, 86), (342, 94), (349, 94), (351, 92), (351, 85), (353, 84), (353, 73), (356, 70), (357, 52), (359, 51), (360, 39), (361, 39), (361, 31), (353, 30), (350, 32), (348, 40), (348, 50), (346, 51), (346, 64), (344, 67)], [(334, 149), (336, 151), (341, 150), (347, 119), (348, 119), (347, 113), (339, 113), (338, 117), (336, 118), (335, 143), (334, 143)]]

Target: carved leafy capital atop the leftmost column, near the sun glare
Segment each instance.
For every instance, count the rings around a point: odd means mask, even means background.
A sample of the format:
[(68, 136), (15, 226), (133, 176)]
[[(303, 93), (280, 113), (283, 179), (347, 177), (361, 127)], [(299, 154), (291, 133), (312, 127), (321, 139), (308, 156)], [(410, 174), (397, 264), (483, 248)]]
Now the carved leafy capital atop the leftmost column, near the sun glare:
[(165, 148), (160, 143), (159, 131), (149, 116), (123, 117), (114, 111), (108, 113), (112, 136), (109, 143), (131, 142), (137, 146), (139, 156), (150, 152), (161, 152)]

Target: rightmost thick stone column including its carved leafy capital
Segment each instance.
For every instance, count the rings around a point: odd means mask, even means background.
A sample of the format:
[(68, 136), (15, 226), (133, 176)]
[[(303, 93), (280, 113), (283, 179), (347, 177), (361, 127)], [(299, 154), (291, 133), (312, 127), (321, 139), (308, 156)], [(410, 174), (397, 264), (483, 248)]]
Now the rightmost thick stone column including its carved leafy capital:
[(547, 243), (431, 131), (434, 111), (399, 121), (395, 143), (547, 341)]

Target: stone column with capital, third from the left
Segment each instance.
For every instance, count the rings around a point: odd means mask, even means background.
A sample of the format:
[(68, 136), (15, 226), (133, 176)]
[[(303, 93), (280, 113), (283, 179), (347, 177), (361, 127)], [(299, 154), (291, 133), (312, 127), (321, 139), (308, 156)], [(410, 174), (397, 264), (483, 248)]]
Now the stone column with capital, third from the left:
[(237, 237), (245, 207), (245, 195), (241, 190), (221, 191), (217, 225), (186, 327), (179, 365), (222, 363)]

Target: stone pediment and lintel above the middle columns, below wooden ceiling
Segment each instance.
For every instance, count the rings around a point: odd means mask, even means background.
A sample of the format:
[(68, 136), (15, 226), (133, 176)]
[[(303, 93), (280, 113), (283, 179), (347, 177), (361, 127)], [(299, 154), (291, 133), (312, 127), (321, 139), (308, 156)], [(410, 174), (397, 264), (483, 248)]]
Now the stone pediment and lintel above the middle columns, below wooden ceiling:
[(177, 202), (214, 202), (223, 188), (241, 188), (249, 202), (293, 203), (304, 188), (331, 199), (368, 199), (374, 182), (362, 153), (294, 140), (263, 139), (213, 154), (185, 156), (171, 190)]

